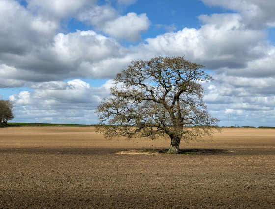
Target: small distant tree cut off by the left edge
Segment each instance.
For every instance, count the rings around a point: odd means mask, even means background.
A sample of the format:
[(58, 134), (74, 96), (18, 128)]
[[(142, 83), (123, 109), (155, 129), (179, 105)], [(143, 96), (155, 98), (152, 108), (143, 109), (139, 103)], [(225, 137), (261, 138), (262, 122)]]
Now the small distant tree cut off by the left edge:
[(8, 120), (14, 119), (13, 102), (0, 100), (0, 125), (7, 125)]

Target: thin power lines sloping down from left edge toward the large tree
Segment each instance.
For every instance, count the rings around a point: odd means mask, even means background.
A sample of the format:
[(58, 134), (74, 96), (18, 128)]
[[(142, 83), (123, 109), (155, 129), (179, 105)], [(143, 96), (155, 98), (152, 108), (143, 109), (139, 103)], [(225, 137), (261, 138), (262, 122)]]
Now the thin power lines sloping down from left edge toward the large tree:
[(10, 86), (3, 85), (3, 84), (0, 84), (0, 88), (5, 89), (5, 90), (14, 91), (14, 92), (19, 92), (19, 93), (22, 92), (22, 91), (27, 91), (33, 96), (41, 97), (41, 98), (44, 98), (44, 99), (52, 99), (52, 100), (56, 100), (56, 101), (63, 101), (63, 102), (77, 103), (77, 104), (97, 105), (95, 103), (78, 102), (78, 101), (74, 101), (74, 100), (70, 100), (70, 99), (64, 99), (64, 98), (60, 98), (60, 97), (56, 97), (56, 96), (49, 96), (49, 95), (46, 95), (46, 94), (35, 93), (35, 92), (28, 91), (28, 90), (23, 90), (23, 89), (19, 89), (19, 88), (15, 88), (15, 87), (10, 87)]

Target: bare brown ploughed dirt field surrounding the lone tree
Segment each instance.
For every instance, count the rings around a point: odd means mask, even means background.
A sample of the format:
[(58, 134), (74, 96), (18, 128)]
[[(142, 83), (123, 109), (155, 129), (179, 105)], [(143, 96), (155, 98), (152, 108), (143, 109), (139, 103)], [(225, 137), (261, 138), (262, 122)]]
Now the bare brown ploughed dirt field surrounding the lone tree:
[(0, 128), (0, 209), (275, 209), (275, 129), (223, 129), (193, 155), (126, 155), (165, 140), (93, 127)]

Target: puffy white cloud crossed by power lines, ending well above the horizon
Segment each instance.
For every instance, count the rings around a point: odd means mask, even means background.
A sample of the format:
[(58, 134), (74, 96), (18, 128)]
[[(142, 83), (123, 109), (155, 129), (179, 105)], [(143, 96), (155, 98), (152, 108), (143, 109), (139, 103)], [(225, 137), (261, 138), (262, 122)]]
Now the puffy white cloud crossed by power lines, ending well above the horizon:
[(62, 105), (76, 106), (75, 108), (83, 106), (92, 109), (99, 104), (103, 97), (109, 95), (111, 82), (112, 80), (108, 80), (100, 87), (91, 87), (90, 84), (81, 79), (73, 79), (67, 82), (34, 83), (31, 87), (36, 90), (33, 92), (22, 91), (19, 94), (12, 95), (10, 99), (16, 105), (22, 106), (29, 104), (39, 106), (37, 100), (41, 100), (51, 102), (54, 106), (62, 103)]

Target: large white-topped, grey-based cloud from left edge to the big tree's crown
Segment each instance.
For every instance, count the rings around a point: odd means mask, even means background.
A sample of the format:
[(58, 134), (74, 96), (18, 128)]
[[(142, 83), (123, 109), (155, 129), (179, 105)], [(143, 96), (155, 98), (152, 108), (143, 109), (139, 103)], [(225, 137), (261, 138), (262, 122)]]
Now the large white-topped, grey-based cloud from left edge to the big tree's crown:
[[(112, 77), (121, 70), (119, 60), (125, 56), (126, 51), (114, 39), (91, 30), (77, 30), (67, 35), (59, 33), (48, 47), (38, 48), (34, 45), (27, 54), (2, 56), (5, 64), (0, 65), (0, 78), (41, 82), (74, 76)], [(109, 68), (104, 68), (112, 59), (114, 61)], [(125, 65), (127, 63), (123, 62), (123, 66)]]

